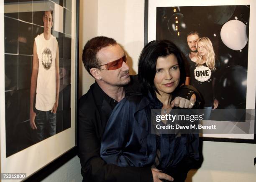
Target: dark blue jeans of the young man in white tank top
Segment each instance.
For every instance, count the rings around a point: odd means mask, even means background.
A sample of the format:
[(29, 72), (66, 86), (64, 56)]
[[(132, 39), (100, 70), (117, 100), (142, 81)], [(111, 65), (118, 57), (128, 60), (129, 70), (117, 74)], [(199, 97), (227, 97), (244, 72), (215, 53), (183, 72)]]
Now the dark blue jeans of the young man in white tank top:
[(56, 134), (56, 113), (49, 111), (40, 111), (35, 109), (35, 124), (37, 127), (35, 142), (40, 142)]

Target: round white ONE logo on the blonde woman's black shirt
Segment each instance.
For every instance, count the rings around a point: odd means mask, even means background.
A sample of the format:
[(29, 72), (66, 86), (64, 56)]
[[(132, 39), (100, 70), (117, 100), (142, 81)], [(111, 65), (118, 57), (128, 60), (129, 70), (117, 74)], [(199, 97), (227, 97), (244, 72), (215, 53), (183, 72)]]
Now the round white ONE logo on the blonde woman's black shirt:
[(207, 66), (197, 66), (194, 70), (195, 79), (199, 82), (205, 82), (210, 79), (212, 71)]

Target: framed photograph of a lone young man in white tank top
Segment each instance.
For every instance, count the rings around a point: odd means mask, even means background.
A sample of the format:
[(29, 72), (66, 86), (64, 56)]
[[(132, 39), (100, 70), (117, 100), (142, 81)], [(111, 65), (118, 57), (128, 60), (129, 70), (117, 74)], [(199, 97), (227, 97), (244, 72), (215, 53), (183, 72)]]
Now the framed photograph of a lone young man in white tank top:
[(76, 146), (78, 0), (0, 8), (0, 171), (29, 177)]

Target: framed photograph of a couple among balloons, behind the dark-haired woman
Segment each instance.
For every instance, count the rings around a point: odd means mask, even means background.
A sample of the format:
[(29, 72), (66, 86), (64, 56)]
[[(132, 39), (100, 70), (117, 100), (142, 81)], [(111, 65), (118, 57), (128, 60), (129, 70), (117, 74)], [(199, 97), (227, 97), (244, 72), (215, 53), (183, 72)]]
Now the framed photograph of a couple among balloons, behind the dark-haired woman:
[[(218, 109), (251, 109), (255, 116), (255, 21), (253, 0), (145, 0), (144, 44), (165, 39), (179, 47), (186, 59), (186, 82), (200, 91), (205, 107), (211, 110), (218, 103)], [(215, 59), (213, 63), (203, 63), (204, 66), (196, 60), (209, 55), (202, 50), (205, 47), (213, 52)], [(213, 92), (211, 97), (210, 92)], [(234, 126), (238, 126), (236, 123)], [(256, 143), (255, 128), (254, 117), (250, 122), (253, 132), (202, 134), (202, 137), (208, 141)]]

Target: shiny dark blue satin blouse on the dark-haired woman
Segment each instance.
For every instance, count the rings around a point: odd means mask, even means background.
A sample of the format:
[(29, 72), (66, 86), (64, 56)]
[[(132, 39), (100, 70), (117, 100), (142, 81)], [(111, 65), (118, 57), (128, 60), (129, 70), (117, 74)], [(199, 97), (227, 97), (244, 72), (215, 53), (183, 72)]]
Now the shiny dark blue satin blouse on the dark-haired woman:
[[(121, 100), (105, 127), (100, 155), (108, 164), (121, 167), (154, 165), (156, 135), (151, 134), (151, 109), (161, 109), (162, 103), (148, 94), (133, 95)], [(159, 170), (177, 165), (183, 157), (199, 159), (198, 134), (161, 134)]]

